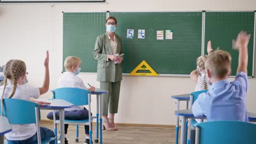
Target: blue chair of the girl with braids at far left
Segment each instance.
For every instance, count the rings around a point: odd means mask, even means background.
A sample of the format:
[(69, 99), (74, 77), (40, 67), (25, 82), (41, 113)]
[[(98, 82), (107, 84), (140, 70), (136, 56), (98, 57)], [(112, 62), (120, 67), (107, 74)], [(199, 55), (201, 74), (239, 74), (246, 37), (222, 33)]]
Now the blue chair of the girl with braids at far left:
[[(38, 144), (49, 143), (55, 140), (55, 137), (48, 137), (41, 141), (40, 135), (40, 107), (36, 103), (21, 99), (4, 99), (4, 116), (10, 124), (32, 124), (37, 125)], [(1, 111), (1, 107), (0, 107)]]

